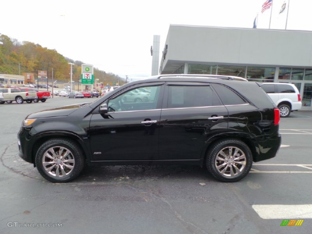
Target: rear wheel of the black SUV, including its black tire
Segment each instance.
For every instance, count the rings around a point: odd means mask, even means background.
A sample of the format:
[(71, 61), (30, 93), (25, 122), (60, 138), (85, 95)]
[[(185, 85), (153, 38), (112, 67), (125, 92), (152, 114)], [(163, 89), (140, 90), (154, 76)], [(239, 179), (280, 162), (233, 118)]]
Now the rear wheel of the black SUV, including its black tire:
[(219, 140), (207, 152), (206, 167), (214, 178), (222, 182), (241, 180), (248, 174), (251, 166), (251, 150), (238, 139)]

